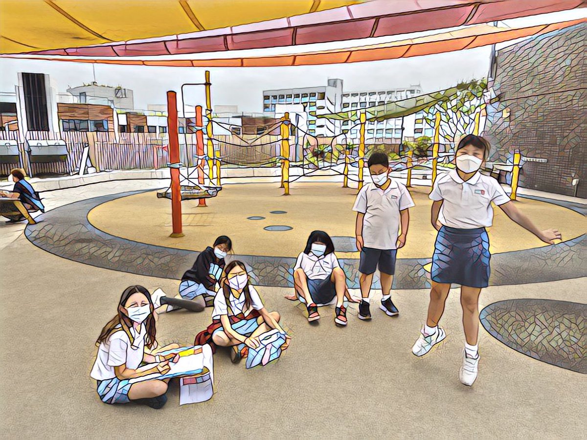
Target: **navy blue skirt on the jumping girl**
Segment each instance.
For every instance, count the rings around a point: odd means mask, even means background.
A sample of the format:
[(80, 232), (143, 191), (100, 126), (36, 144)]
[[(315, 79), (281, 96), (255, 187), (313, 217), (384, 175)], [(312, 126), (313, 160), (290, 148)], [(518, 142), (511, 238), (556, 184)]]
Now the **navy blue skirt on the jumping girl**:
[(489, 285), (491, 254), (485, 228), (438, 231), (432, 256), (431, 278), (437, 283), (469, 287)]

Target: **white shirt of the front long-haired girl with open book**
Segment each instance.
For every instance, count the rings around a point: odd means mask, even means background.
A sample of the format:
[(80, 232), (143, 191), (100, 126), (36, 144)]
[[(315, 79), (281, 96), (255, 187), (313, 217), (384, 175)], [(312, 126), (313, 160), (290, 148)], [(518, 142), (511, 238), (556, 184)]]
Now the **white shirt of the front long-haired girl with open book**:
[(139, 368), (143, 361), (147, 329), (141, 324), (139, 331), (130, 327), (130, 333), (133, 335), (134, 345), (122, 328), (112, 333), (106, 342), (100, 343), (90, 377), (96, 380), (112, 379), (116, 377), (114, 367), (123, 364), (131, 370)]

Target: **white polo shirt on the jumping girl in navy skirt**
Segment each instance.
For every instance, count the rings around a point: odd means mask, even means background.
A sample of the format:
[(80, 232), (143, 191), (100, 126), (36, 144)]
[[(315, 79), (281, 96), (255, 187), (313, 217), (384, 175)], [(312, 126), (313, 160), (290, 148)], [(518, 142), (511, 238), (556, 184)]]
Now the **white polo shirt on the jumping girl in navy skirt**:
[(510, 201), (494, 178), (477, 172), (465, 182), (457, 170), (438, 175), (429, 197), (434, 201), (443, 200), (438, 221), (444, 226), (458, 229), (491, 226), (491, 202), (503, 205)]

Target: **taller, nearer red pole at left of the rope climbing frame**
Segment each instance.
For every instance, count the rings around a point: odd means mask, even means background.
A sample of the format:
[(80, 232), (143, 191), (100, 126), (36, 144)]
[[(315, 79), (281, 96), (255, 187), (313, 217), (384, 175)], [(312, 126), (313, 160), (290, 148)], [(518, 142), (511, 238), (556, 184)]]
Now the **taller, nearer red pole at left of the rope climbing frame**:
[(171, 220), (173, 233), (170, 237), (183, 237), (181, 232), (181, 188), (180, 188), (180, 142), (177, 137), (177, 94), (167, 92), (167, 133), (169, 136), (169, 161), (171, 174)]

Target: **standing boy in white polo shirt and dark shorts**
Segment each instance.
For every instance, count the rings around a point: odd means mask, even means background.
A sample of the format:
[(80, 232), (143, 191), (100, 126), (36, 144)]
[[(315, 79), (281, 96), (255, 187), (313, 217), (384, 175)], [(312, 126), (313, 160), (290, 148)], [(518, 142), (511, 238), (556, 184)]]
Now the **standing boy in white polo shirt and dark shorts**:
[(383, 293), (379, 308), (389, 316), (399, 314), (392, 302), (390, 290), (397, 249), (406, 244), (410, 222), (408, 208), (414, 206), (406, 185), (389, 178), (386, 153), (373, 153), (367, 165), (373, 183), (366, 184), (359, 191), (353, 207), (353, 211), (357, 211), (355, 234), (357, 249), (361, 253), (359, 272), (362, 300), (359, 303), (359, 319), (362, 320), (371, 319), (369, 292), (377, 266)]

